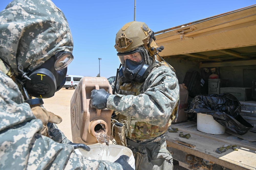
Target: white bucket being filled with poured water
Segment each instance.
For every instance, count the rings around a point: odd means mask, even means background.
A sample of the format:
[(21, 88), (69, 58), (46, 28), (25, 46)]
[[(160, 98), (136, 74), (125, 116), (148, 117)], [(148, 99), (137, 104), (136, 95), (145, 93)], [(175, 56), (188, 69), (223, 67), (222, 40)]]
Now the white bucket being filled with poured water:
[[(89, 152), (83, 149), (75, 149), (75, 152), (77, 154), (87, 157), (89, 160), (97, 160), (98, 153), (100, 150), (100, 145), (99, 144), (89, 145), (89, 147), (91, 148)], [(133, 169), (135, 169), (135, 160), (134, 160), (134, 156), (132, 154), (131, 149), (125, 146), (116, 145), (116, 144), (109, 144), (109, 148), (110, 148), (109, 157), (107, 158), (105, 156), (106, 152), (104, 152), (101, 160), (115, 162), (121, 155), (127, 155), (130, 157), (128, 160), (128, 163), (131, 165)]]

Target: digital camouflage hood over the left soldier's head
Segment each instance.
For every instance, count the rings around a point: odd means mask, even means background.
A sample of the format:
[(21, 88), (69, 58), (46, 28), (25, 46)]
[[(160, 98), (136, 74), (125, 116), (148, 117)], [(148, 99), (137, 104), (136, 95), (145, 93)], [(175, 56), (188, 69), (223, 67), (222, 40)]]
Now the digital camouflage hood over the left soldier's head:
[(0, 12), (0, 59), (17, 75), (73, 50), (67, 19), (50, 0), (15, 0)]

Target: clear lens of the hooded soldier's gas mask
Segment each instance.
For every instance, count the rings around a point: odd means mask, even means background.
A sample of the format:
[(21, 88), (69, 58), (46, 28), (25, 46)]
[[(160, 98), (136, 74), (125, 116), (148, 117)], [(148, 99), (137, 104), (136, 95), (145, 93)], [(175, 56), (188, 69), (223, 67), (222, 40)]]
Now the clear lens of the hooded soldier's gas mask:
[(55, 70), (57, 72), (60, 72), (64, 70), (74, 59), (73, 55), (70, 52), (67, 51), (61, 51), (55, 54)]

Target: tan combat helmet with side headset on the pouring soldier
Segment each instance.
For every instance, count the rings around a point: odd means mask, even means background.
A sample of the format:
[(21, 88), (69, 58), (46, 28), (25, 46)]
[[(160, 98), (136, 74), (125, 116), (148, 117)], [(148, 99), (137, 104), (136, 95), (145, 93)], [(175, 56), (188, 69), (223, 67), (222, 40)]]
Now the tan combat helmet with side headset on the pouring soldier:
[(144, 22), (132, 21), (116, 33), (114, 47), (118, 52), (126, 52), (143, 45), (153, 57), (159, 51), (155, 40), (154, 32)]

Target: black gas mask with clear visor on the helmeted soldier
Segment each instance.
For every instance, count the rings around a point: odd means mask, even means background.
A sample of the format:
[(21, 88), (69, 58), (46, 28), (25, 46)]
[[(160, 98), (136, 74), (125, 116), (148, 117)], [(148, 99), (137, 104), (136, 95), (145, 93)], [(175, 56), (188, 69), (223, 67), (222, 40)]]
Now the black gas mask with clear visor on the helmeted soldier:
[(124, 83), (143, 83), (150, 72), (150, 66), (145, 63), (144, 51), (118, 53), (122, 68), (118, 71)]

